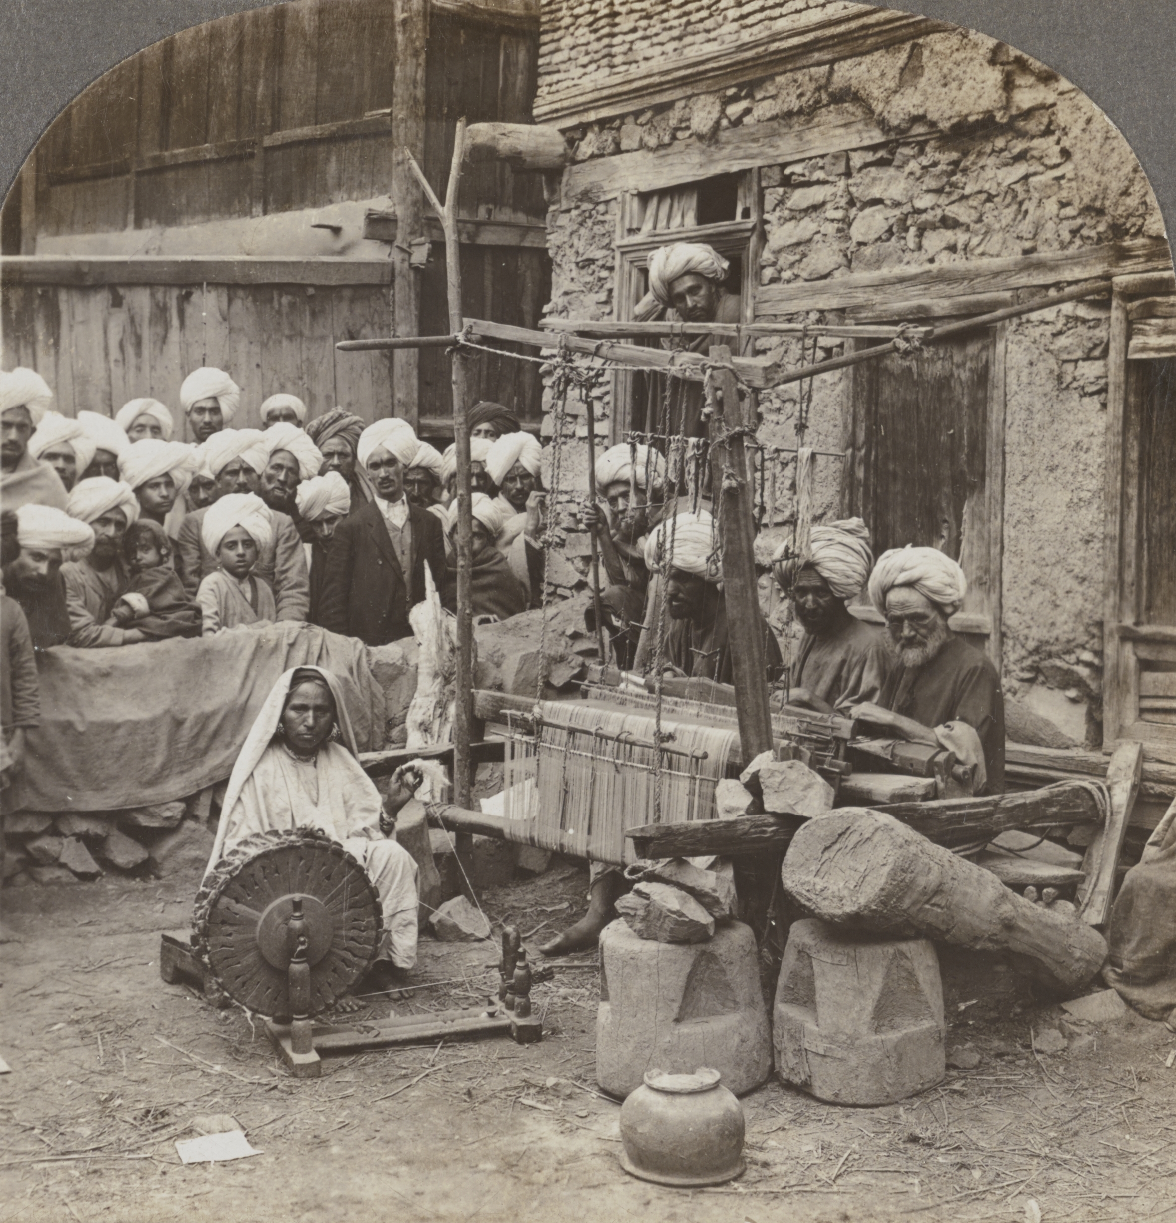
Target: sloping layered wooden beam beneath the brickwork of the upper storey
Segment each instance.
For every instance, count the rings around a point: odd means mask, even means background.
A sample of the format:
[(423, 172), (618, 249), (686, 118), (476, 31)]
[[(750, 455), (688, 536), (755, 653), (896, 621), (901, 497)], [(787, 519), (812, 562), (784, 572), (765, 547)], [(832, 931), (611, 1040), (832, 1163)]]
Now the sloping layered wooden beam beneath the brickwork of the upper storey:
[[(666, 16), (674, 20), (672, 9)], [(655, 65), (642, 65), (637, 71), (610, 73), (595, 87), (586, 88), (573, 81), (562, 88), (543, 89), (534, 115), (538, 122), (573, 127), (748, 79), (868, 55), (894, 43), (955, 28), (925, 17), (853, 6), (850, 12), (831, 18), (795, 20), (785, 31), (743, 38), (735, 48), (724, 46), (703, 55), (671, 55)]]

